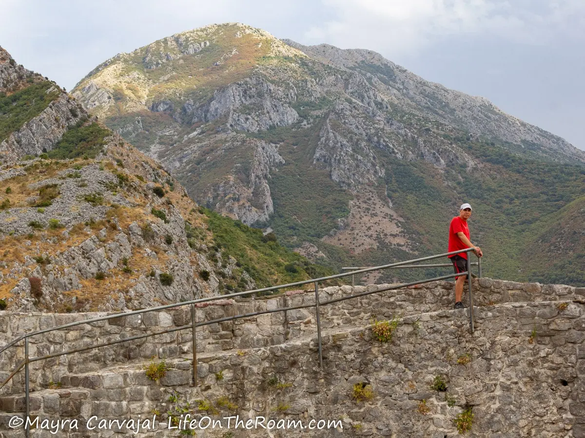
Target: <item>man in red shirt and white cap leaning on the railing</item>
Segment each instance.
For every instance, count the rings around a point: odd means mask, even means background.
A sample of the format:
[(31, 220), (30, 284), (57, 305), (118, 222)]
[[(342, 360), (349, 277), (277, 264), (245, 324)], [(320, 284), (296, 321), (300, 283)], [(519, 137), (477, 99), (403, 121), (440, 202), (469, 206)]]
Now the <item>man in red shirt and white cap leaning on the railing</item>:
[[(469, 227), (467, 227), (467, 220), (472, 215), (472, 206), (463, 204), (459, 209), (459, 216), (456, 216), (451, 221), (449, 227), (449, 252), (459, 251), (460, 249), (473, 248), (473, 252), (481, 257), (483, 253), (479, 246), (475, 246), (469, 240)], [(462, 252), (456, 255), (449, 256), (453, 262), (455, 273), (465, 272), (467, 270), (467, 252)], [(462, 309), (463, 303), (461, 296), (463, 294), (463, 283), (465, 283), (466, 276), (456, 277), (455, 282), (455, 308)], [(471, 285), (469, 285), (471, 287)]]

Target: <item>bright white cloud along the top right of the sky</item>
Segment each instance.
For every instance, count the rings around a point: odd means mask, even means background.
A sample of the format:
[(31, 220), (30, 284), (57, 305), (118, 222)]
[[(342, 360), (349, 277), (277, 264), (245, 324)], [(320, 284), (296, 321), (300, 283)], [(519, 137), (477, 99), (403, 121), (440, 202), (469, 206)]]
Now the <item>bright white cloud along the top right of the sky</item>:
[(323, 0), (332, 18), (305, 32), (311, 43), (411, 53), (450, 36), (546, 44), (585, 39), (583, 0)]

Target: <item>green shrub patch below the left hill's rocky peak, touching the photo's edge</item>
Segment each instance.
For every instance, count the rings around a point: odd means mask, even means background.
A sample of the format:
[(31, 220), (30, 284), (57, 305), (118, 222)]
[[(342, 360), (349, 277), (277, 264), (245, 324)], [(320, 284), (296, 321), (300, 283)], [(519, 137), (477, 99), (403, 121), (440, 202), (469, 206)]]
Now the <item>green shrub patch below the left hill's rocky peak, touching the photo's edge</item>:
[[(47, 93), (51, 87), (54, 91)], [(59, 94), (59, 89), (50, 81), (32, 84), (9, 96), (0, 93), (0, 142), (42, 113)]]

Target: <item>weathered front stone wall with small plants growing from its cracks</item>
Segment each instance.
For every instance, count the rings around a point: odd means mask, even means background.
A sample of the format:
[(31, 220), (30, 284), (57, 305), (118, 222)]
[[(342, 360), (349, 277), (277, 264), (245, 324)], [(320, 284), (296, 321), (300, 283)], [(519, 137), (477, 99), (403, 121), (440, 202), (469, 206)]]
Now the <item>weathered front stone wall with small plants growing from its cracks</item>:
[[(436, 310), (443, 306), (443, 298), (452, 297), (449, 284), (322, 307), (326, 326), (322, 330), (323, 370), (319, 368), (311, 312), (287, 312), (280, 315), (282, 318), (279, 314), (261, 315), (207, 326), (208, 331), (198, 329), (197, 387), (191, 385), (192, 354), (184, 339), (190, 338), (190, 333), (176, 336), (171, 342), (174, 349), (169, 339), (153, 340), (158, 353), (153, 363), (160, 363), (160, 358), (169, 353), (165, 360), (168, 370), (159, 381), (151, 380), (144, 371), (153, 352), (149, 342), (123, 347), (126, 355), (120, 362), (108, 363), (108, 358), (120, 350), (102, 352), (101, 361), (99, 356), (75, 354), (85, 357), (85, 366), (68, 358), (64, 363), (56, 361), (32, 371), (30, 409), (32, 415), (39, 417), (39, 424), (43, 419), (78, 419), (78, 427), (67, 429), (66, 425), (53, 434), (47, 426), (33, 430), (31, 436), (179, 436), (180, 431), (168, 426), (168, 412), (176, 418), (189, 412), (198, 419), (205, 415), (217, 419), (240, 415), (246, 419), (264, 416), (274, 420), (341, 421), (335, 429), (303, 429), (307, 436), (441, 438), (456, 436), (453, 420), (467, 406), (473, 406), (475, 415), (470, 436), (585, 436), (585, 399), (581, 401), (585, 381), (580, 377), (581, 369), (585, 370), (585, 319), (580, 303), (583, 291), (566, 286), (534, 288), (480, 281), (491, 284), (486, 290), (486, 286), (477, 283), (480, 293), (476, 293), (476, 302), (491, 301), (498, 294), (500, 298), (521, 297), (524, 301), (488, 302), (476, 307), (474, 333), (469, 332), (469, 310)], [(346, 291), (338, 288), (322, 293), (325, 299)], [(421, 303), (406, 301), (415, 300), (413, 297)], [(311, 293), (290, 293), (253, 303), (242, 300), (201, 308), (198, 318), (211, 320), (221, 314), (233, 314), (234, 306), (258, 310), (310, 299)], [(417, 307), (424, 306), (432, 310), (416, 312)], [(368, 328), (371, 318), (389, 318), (396, 307), (402, 308), (402, 317), (393, 340), (380, 343), (372, 339)], [(168, 314), (170, 319), (158, 315), (157, 322), (168, 324), (172, 320), (181, 325), (183, 314)], [(115, 321), (120, 325), (113, 327), (139, 329), (137, 322), (129, 319)], [(152, 322), (142, 318), (140, 324)], [(10, 324), (18, 328), (17, 323)], [(112, 326), (104, 324), (99, 329), (111, 332)], [(78, 332), (79, 337), (73, 337), (84, 339), (86, 329)], [(278, 342), (278, 336), (282, 342)], [(129, 354), (130, 349), (137, 351)], [(429, 389), (436, 376), (446, 381), (446, 392)], [(47, 378), (53, 379), (50, 388)], [(373, 397), (356, 402), (352, 397), (356, 384), (371, 385)], [(6, 426), (13, 416), (22, 416), (21, 385), (17, 375), (15, 383), (0, 397), (2, 438), (24, 436), (22, 428)], [(424, 413), (421, 406), (430, 411)], [(99, 420), (136, 422), (154, 415), (157, 427), (141, 429), (137, 434), (132, 428), (116, 424), (103, 430), (86, 427), (92, 417), (95, 420), (90, 427), (98, 426)], [(293, 433), (298, 430), (277, 429), (271, 431), (271, 436)], [(195, 434), (266, 436), (266, 430), (216, 427), (197, 429)]]

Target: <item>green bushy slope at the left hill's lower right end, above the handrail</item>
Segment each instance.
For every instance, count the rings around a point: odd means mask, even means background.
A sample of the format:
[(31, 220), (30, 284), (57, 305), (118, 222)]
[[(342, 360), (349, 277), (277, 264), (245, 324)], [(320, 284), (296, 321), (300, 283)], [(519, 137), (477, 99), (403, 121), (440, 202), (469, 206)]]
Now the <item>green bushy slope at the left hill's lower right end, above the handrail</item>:
[[(240, 221), (234, 221), (201, 207), (208, 218), (209, 229), (214, 242), (223, 255), (232, 256), (239, 269), (246, 271), (258, 288), (277, 284), (293, 283), (315, 277), (331, 275), (333, 272), (314, 265), (303, 256), (281, 246), (276, 238), (264, 237), (258, 228), (250, 228)], [(224, 279), (230, 291), (242, 291), (242, 284)]]

